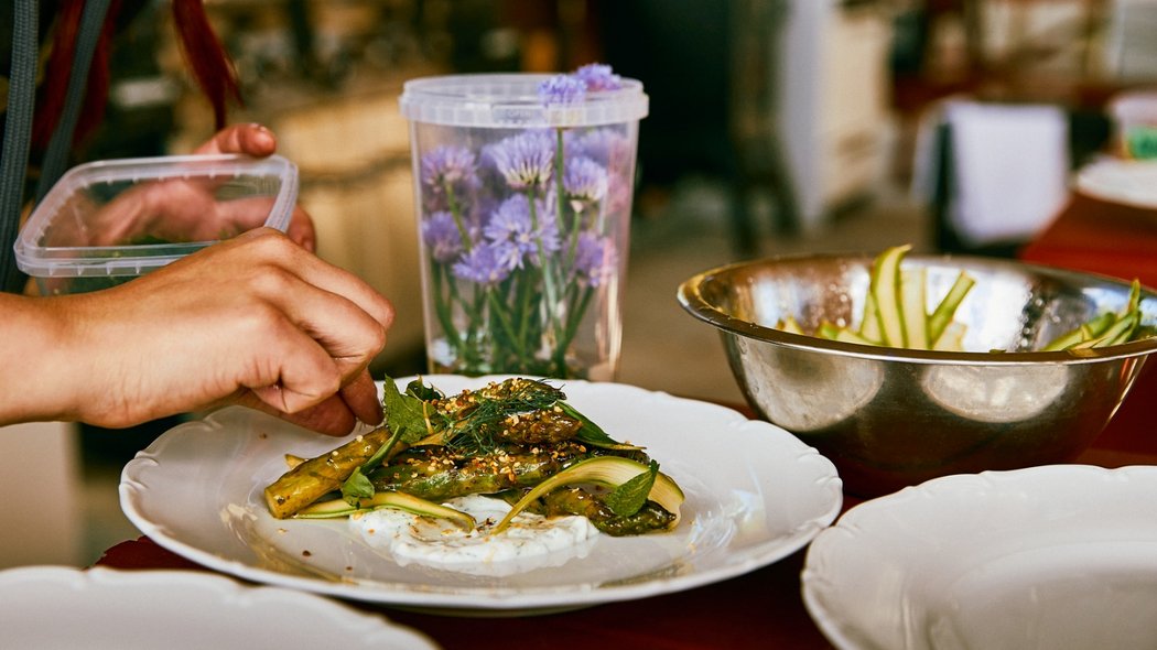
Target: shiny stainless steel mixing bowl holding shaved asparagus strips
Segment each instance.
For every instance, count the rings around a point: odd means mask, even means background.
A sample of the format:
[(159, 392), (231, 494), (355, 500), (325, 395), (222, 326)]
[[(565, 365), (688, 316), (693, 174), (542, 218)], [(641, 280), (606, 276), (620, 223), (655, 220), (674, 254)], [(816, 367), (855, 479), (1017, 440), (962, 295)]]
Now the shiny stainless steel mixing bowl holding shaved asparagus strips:
[[(1069, 461), (1104, 429), (1157, 338), (1032, 352), (1105, 310), (1129, 285), (1015, 261), (908, 256), (938, 300), (966, 269), (957, 312), (963, 353), (884, 348), (773, 328), (794, 316), (857, 326), (870, 256), (806, 256), (723, 266), (679, 287), (692, 316), (720, 330), (747, 401), (827, 456), (847, 489), (876, 496), (945, 474)], [(1142, 326), (1157, 294), (1142, 291)], [(1005, 350), (1005, 352), (993, 352)]]

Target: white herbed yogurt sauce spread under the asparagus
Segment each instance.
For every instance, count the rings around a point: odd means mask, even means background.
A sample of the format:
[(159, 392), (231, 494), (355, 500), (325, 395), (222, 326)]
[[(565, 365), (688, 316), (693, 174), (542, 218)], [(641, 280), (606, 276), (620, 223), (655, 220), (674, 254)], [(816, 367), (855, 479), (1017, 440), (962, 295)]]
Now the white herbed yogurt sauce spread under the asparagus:
[(414, 562), (487, 576), (561, 566), (584, 556), (598, 535), (598, 529), (585, 517), (546, 518), (530, 512), (521, 512), (507, 530), (494, 534), (494, 526), (510, 511), (508, 503), (470, 495), (449, 500), (445, 505), (474, 517), (478, 527), (466, 532), (443, 519), (390, 508), (351, 517), (349, 526), (366, 544), (401, 566)]

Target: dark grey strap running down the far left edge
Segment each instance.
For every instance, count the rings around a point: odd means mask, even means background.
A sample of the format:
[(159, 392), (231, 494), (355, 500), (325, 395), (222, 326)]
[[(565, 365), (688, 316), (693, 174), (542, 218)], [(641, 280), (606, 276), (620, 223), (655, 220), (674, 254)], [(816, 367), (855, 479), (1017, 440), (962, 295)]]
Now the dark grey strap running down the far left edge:
[(20, 293), (24, 274), (16, 268), (20, 213), (28, 172), (28, 148), (32, 134), (32, 102), (36, 96), (37, 1), (15, 0), (12, 24), (12, 71), (8, 74), (8, 115), (5, 117), (3, 149), (0, 154), (0, 289)]

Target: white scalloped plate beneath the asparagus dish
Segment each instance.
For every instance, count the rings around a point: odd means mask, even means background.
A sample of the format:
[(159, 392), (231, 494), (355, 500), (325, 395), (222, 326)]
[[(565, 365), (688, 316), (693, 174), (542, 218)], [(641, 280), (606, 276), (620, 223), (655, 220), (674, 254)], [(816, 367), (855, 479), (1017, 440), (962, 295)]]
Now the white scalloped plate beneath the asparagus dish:
[[(426, 377), (447, 393), (488, 379)], [(686, 494), (677, 530), (599, 535), (584, 557), (507, 577), (399, 567), (344, 520), (270, 516), (261, 490), (285, 472), (283, 455), (317, 456), (340, 441), (243, 408), (182, 424), (138, 453), (121, 477), (121, 508), (161, 546), (248, 579), (474, 613), (577, 607), (725, 579), (803, 547), (840, 510), (831, 461), (767, 422), (621, 384), (561, 386), (580, 412), (646, 445), (675, 478)]]

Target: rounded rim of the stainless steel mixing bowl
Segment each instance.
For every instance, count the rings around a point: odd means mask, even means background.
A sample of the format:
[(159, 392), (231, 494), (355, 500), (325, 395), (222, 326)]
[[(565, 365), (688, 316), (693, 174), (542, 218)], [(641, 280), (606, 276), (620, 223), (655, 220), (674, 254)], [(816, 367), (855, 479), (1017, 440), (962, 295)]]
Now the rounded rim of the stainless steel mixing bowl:
[[(721, 333), (730, 333), (761, 342), (776, 346), (813, 350), (841, 356), (857, 359), (871, 359), (878, 361), (904, 361), (909, 363), (948, 363), (958, 365), (1029, 365), (1039, 363), (1076, 364), (1096, 363), (1100, 361), (1121, 360), (1134, 356), (1144, 356), (1157, 350), (1157, 337), (1148, 337), (1127, 344), (1108, 346), (1103, 348), (1086, 348), (1079, 350), (1057, 352), (1009, 352), (992, 354), (983, 352), (943, 352), (923, 350), (912, 348), (897, 348), (886, 346), (865, 346), (845, 341), (833, 341), (808, 334), (793, 334), (774, 327), (757, 325), (738, 318), (728, 316), (720, 309), (713, 306), (703, 298), (701, 288), (712, 278), (721, 274), (734, 273), (740, 268), (750, 268), (775, 263), (793, 263), (803, 260), (848, 260), (857, 263), (869, 263), (876, 256), (869, 253), (793, 253), (782, 256), (771, 256), (759, 259), (735, 261), (709, 268), (692, 275), (679, 285), (677, 297), (679, 304), (691, 316), (709, 325), (717, 327)], [(1033, 264), (1011, 259), (994, 259), (975, 256), (958, 256), (951, 253), (921, 253), (909, 254), (905, 260), (924, 263), (959, 263), (964, 265), (986, 266), (995, 268), (1016, 269), (1019, 272), (1033, 272), (1052, 278), (1069, 279), (1095, 279), (1103, 283), (1117, 285), (1122, 288), (1130, 286), (1129, 281), (1121, 280), (1099, 273), (1075, 271), (1059, 266)], [(1142, 285), (1142, 300), (1157, 301), (1157, 290)]]

